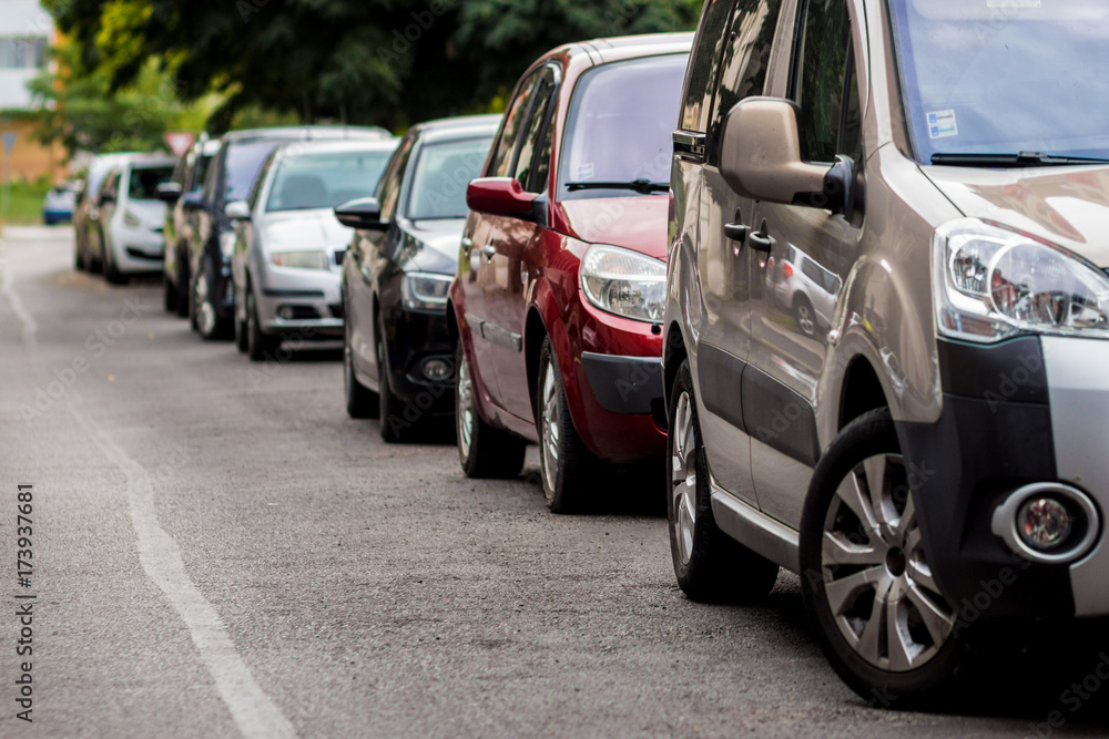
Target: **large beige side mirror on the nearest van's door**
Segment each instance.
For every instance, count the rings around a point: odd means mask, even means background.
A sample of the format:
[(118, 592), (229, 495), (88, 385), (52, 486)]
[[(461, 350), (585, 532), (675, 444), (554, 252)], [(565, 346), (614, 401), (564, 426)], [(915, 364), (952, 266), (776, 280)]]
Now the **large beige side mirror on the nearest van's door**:
[(827, 208), (851, 218), (855, 165), (836, 157), (828, 170), (801, 157), (797, 106), (777, 97), (747, 97), (724, 120), (720, 170), (744, 197), (786, 205)]

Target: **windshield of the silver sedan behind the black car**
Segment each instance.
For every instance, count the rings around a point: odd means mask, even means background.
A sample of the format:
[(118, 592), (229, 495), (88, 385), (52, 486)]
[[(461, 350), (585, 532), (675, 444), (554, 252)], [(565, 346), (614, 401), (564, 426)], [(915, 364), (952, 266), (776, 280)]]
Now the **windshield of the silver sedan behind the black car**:
[(334, 208), (372, 197), (390, 150), (302, 155), (281, 163), (266, 211)]

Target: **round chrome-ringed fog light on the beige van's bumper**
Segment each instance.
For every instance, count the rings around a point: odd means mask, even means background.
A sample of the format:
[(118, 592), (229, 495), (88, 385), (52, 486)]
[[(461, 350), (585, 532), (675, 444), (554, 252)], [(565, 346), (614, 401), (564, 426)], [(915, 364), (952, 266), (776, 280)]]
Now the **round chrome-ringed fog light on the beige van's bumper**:
[(1077, 487), (1036, 483), (1009, 493), (994, 510), (990, 528), (1025, 560), (1069, 564), (1093, 548), (1101, 535), (1101, 514)]

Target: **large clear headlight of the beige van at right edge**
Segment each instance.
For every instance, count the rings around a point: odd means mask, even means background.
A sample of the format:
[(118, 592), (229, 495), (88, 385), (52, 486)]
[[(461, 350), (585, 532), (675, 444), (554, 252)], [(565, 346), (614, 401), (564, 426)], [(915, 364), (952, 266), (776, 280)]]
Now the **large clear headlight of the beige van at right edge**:
[(1060, 246), (974, 218), (936, 232), (940, 333), (990, 343), (1022, 332), (1109, 338), (1109, 277)]

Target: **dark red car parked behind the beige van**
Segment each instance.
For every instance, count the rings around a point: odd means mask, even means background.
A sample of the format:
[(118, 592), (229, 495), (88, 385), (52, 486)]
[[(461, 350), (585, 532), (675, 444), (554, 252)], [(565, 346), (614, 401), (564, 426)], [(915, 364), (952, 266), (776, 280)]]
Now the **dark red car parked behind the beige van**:
[(668, 193), (692, 42), (547, 54), (467, 191), (448, 306), (459, 459), (471, 478), (515, 476), (538, 442), (554, 512), (591, 494), (600, 465), (665, 453)]

